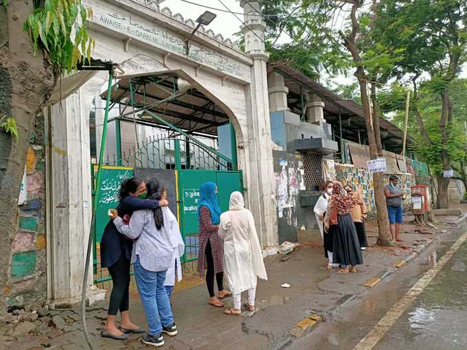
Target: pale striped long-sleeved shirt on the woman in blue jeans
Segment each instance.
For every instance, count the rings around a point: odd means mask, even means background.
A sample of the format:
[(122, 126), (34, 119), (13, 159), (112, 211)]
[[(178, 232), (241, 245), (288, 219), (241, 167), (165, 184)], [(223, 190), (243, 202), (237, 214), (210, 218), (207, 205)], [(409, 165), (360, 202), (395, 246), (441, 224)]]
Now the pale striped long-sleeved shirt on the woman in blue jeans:
[(134, 264), (139, 256), (141, 266), (149, 271), (165, 271), (174, 265), (176, 248), (171, 244), (170, 225), (165, 224), (170, 218), (165, 211), (162, 213), (164, 226), (160, 230), (156, 227), (154, 212), (150, 209), (135, 211), (128, 225), (122, 222), (122, 218), (117, 217), (113, 220), (119, 233), (126, 235), (130, 240), (136, 240), (131, 253), (131, 264)]

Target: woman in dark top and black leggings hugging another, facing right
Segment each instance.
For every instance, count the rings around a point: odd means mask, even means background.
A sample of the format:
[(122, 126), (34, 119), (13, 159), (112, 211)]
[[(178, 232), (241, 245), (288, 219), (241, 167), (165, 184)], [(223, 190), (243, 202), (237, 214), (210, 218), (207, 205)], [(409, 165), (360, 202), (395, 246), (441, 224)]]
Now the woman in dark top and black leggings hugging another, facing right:
[[(168, 206), (167, 200), (149, 200), (146, 198), (146, 183), (141, 178), (128, 178), (119, 189), (118, 215), (131, 216), (133, 211), (157, 209)], [(126, 340), (128, 333), (143, 333), (142, 329), (130, 321), (128, 312), (130, 288), (130, 257), (133, 241), (121, 235), (112, 221), (106, 225), (100, 241), (101, 266), (109, 269), (112, 277), (112, 292), (109, 312), (101, 336), (115, 340)], [(121, 324), (117, 328), (115, 316), (120, 312)]]

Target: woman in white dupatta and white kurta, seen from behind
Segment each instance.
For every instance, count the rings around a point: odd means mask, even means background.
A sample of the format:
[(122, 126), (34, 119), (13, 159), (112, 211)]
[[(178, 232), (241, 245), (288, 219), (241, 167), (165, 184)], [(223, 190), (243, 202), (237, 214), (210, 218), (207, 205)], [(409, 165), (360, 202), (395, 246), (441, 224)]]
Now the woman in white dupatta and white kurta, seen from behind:
[(241, 294), (248, 290), (248, 310), (255, 310), (258, 277), (267, 280), (260, 241), (251, 211), (245, 209), (240, 192), (230, 196), (229, 211), (220, 215), (219, 236), (224, 240), (224, 272), (234, 297), (227, 315), (240, 315)]

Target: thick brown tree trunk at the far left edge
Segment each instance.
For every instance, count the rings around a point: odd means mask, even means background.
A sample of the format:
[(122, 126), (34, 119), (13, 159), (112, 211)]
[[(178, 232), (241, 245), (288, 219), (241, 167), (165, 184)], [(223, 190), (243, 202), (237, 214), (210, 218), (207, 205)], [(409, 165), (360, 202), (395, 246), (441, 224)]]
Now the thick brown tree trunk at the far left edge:
[[(18, 230), (18, 198), (30, 132), (54, 87), (52, 69), (41, 50), (33, 56), (29, 34), (23, 31), (32, 3), (15, 0), (6, 10), (0, 6), (0, 113), (14, 117), (19, 133), (16, 140), (0, 131), (0, 286), (11, 282), (11, 240)], [(1, 293), (0, 314), (5, 311), (5, 294)]]

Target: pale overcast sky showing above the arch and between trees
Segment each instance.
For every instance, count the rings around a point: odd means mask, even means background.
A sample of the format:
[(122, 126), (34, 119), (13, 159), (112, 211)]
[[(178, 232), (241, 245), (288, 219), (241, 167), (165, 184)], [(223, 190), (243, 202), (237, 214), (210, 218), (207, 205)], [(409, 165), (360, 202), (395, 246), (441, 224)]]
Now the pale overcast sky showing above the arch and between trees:
[[(222, 36), (227, 39), (230, 38), (232, 41), (236, 40), (234, 34), (240, 31), (240, 26), (242, 23), (236, 19), (234, 14), (230, 12), (212, 10), (210, 8), (217, 8), (227, 11), (224, 7), (227, 6), (232, 12), (243, 13), (243, 9), (240, 7), (239, 0), (187, 0), (192, 3), (198, 3), (200, 5), (192, 5), (183, 0), (164, 0), (161, 3), (161, 8), (168, 7), (172, 10), (172, 13), (180, 13), (184, 19), (192, 19), (193, 21), (198, 18), (205, 10), (214, 12), (217, 14), (216, 19), (208, 26), (209, 29), (213, 30), (215, 34), (222, 34)], [(202, 5), (201, 5), (202, 4)], [(224, 5), (223, 5), (224, 4)], [(241, 14), (237, 16), (243, 20)], [(282, 41), (282, 38), (281, 38)], [(464, 69), (460, 75), (462, 78), (467, 78), (467, 65), (464, 65)], [(354, 80), (353, 71), (349, 72), (349, 77), (339, 75), (338, 77), (332, 79), (332, 82), (339, 84), (350, 84)], [(330, 84), (332, 85), (332, 84)]]

